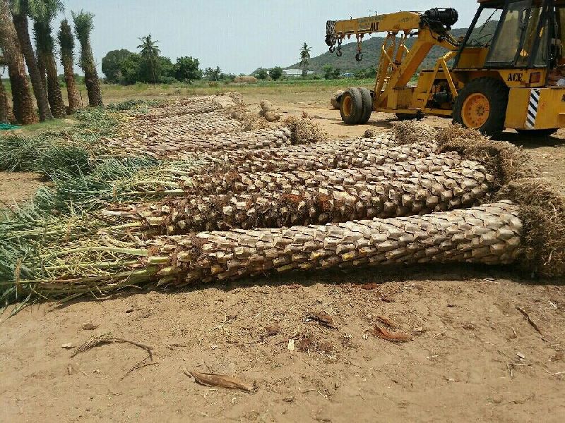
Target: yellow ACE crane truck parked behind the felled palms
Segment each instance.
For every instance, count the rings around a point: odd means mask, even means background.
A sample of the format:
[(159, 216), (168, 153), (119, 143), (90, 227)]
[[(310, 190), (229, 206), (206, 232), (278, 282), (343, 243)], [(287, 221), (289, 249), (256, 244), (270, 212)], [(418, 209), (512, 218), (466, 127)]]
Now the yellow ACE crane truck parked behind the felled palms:
[[(565, 0), (478, 3), (458, 39), (451, 34), (458, 20), (453, 8), (329, 20), (330, 51), (341, 56), (343, 40), (354, 36), (357, 61), (364, 35), (387, 33), (374, 90), (350, 88), (338, 99), (343, 121), (367, 123), (372, 111), (380, 111), (400, 119), (451, 117), (488, 135), (504, 128), (548, 135), (565, 127)], [(409, 37), (415, 37), (410, 48)], [(435, 46), (445, 54), (411, 85)]]

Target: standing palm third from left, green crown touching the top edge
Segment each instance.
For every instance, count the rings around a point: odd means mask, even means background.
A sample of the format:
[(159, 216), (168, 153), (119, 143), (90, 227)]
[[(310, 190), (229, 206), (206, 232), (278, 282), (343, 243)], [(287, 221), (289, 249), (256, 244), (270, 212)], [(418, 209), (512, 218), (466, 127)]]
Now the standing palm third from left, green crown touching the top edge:
[(41, 0), (41, 5), (42, 7), (32, 15), (35, 47), (37, 56), (47, 72), (47, 99), (51, 113), (56, 118), (64, 118), (66, 110), (59, 85), (59, 72), (54, 55), (55, 44), (51, 34), (51, 22), (59, 11), (64, 10), (64, 6), (60, 0)]

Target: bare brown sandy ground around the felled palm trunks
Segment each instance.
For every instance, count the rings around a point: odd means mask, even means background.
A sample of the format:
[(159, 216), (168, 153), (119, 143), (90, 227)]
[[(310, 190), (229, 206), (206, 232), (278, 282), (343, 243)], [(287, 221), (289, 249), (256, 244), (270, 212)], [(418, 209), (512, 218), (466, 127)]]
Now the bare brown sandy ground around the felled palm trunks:
[[(345, 126), (326, 107), (327, 92), (268, 99), (289, 114), (307, 111), (335, 137), (391, 124), (376, 115)], [(504, 138), (565, 186), (561, 137)], [(0, 316), (0, 420), (563, 422), (564, 293), (562, 281), (516, 269), (425, 266), (34, 306)], [(331, 327), (309, 319), (321, 313)], [(411, 339), (385, 341), (375, 326)], [(130, 343), (75, 357), (62, 346), (107, 332), (149, 345), (153, 360)], [(256, 390), (201, 386), (184, 370)]]

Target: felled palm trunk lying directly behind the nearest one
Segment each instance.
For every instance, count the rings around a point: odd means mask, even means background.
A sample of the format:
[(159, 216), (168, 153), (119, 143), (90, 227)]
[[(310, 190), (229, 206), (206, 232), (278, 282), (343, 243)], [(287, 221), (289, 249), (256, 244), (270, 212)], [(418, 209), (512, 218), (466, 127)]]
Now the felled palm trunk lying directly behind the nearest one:
[(191, 195), (165, 202), (145, 221), (161, 233), (176, 235), (234, 228), (281, 228), (379, 217), (412, 216), (472, 207), (489, 193), (492, 176), (480, 164), (414, 171), (396, 180), (380, 178), (343, 185), (343, 180), (261, 187), (256, 193)]

